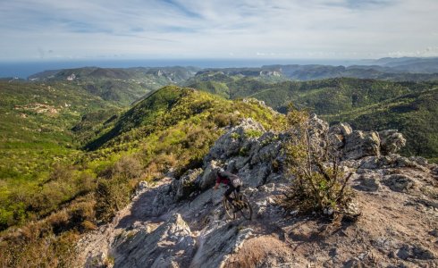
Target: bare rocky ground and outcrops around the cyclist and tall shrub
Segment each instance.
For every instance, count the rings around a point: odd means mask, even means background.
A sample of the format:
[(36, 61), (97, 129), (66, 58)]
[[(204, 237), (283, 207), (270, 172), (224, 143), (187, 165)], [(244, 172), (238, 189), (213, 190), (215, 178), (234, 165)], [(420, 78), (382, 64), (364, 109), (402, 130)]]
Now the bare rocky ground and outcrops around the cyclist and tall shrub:
[[(343, 169), (353, 172), (356, 222), (328, 222), (286, 212), (277, 204), (290, 184), (282, 171), (284, 133), (242, 121), (211, 148), (202, 168), (181, 178), (139, 185), (114, 221), (78, 244), (86, 267), (438, 267), (438, 167), (396, 155), (395, 130), (329, 129), (313, 117), (313, 138), (336, 139)], [(261, 136), (245, 133), (259, 131)], [(242, 149), (243, 148), (243, 149)], [(214, 170), (244, 181), (252, 221), (230, 220), (214, 191)]]

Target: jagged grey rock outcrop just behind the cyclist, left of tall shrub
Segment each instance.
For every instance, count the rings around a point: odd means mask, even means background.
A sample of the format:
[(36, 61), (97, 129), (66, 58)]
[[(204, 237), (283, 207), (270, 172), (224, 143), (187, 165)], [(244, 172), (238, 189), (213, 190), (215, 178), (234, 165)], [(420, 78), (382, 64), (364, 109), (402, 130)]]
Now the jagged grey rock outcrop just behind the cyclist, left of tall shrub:
[(266, 131), (252, 119), (246, 119), (219, 138), (204, 158), (204, 173), (198, 184), (212, 186), (210, 171), (221, 166), (237, 173), (245, 184), (258, 187), (279, 178), (284, 156), (281, 153), (286, 135)]

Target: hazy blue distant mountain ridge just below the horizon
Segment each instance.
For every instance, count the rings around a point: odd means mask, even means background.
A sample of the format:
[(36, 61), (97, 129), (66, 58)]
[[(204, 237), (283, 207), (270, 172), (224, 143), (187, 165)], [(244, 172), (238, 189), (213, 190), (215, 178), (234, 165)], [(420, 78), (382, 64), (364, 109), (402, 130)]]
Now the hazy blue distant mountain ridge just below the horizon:
[[(74, 79), (120, 79), (149, 81), (156, 77), (165, 77), (173, 83), (181, 83), (195, 75), (207, 72), (222, 72), (225, 75), (244, 77), (272, 76), (283, 80), (319, 80), (350, 77), (377, 80), (437, 80), (438, 57), (431, 58), (382, 58), (368, 61), (362, 65), (333, 66), (325, 64), (273, 64), (261, 67), (241, 68), (197, 68), (197, 67), (132, 67), (100, 68), (83, 67), (76, 69), (42, 71), (29, 76), (29, 80), (66, 80)], [(72, 79), (72, 78), (71, 78)], [(162, 85), (163, 86), (163, 85)]]

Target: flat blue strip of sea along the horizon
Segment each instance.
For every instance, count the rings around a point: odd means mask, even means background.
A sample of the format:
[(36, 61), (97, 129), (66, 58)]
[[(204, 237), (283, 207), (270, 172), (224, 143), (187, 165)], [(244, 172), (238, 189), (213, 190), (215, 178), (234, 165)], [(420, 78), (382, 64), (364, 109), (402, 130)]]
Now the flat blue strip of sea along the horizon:
[[(364, 62), (362, 62), (363, 64)], [(360, 60), (316, 60), (316, 59), (144, 59), (144, 60), (74, 60), (74, 61), (31, 61), (0, 62), (0, 78), (27, 79), (40, 71), (71, 69), (80, 67), (130, 68), (193, 66), (199, 68), (261, 67), (272, 64), (360, 64)]]

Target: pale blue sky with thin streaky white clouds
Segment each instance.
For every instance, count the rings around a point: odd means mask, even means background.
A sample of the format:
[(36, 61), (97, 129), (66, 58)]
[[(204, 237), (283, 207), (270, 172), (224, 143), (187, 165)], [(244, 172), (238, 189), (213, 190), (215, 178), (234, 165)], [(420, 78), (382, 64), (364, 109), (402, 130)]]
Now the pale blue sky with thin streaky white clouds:
[(438, 56), (438, 0), (0, 0), (0, 61)]

